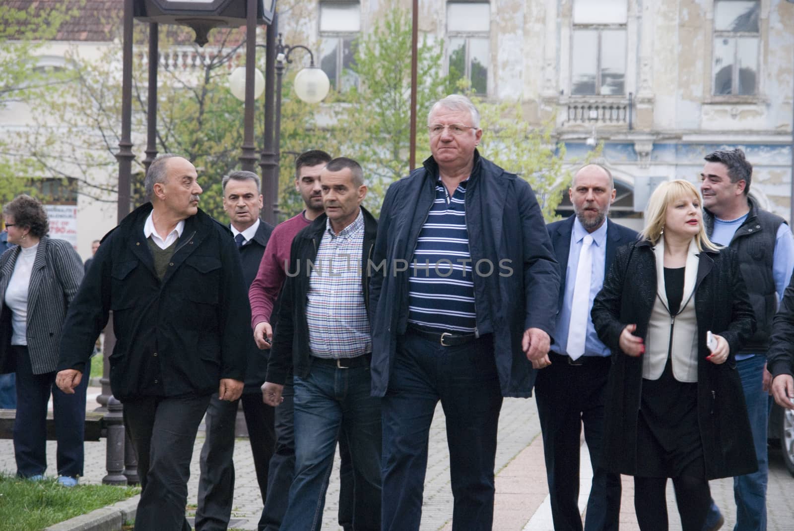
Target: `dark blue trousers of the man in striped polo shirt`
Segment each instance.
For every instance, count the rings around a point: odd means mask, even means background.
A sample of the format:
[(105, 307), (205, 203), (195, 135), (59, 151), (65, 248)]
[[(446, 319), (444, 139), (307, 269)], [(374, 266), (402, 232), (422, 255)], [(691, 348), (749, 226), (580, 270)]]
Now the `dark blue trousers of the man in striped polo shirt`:
[(502, 408), (493, 337), (443, 347), (409, 330), (398, 340), (383, 398), (384, 531), (419, 529), (430, 423), (439, 400), (455, 498), (453, 531), (491, 529)]

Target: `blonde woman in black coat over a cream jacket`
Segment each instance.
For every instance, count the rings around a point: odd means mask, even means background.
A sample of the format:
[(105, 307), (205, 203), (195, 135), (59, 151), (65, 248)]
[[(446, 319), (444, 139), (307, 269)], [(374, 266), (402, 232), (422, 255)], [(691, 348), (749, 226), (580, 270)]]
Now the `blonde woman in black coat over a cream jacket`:
[(735, 253), (706, 236), (692, 183), (661, 184), (646, 220), (641, 239), (618, 250), (592, 308), (613, 356), (603, 464), (634, 475), (642, 531), (668, 529), (668, 478), (684, 531), (701, 531), (708, 480), (757, 467), (734, 360), (754, 314)]

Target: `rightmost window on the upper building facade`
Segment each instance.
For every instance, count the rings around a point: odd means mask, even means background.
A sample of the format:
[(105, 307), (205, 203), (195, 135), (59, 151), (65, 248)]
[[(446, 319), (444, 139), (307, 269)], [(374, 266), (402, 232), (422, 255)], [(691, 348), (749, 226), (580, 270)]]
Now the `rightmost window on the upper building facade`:
[(714, 4), (714, 94), (757, 94), (758, 0)]

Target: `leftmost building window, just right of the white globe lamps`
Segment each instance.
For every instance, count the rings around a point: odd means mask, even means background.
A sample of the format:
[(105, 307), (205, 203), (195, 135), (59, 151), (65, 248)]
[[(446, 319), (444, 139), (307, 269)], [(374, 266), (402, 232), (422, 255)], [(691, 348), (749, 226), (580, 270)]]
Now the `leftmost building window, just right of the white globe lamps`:
[(331, 87), (341, 92), (358, 86), (358, 75), (353, 71), (353, 41), (360, 30), (359, 2), (320, 2), (320, 67), (328, 75)]

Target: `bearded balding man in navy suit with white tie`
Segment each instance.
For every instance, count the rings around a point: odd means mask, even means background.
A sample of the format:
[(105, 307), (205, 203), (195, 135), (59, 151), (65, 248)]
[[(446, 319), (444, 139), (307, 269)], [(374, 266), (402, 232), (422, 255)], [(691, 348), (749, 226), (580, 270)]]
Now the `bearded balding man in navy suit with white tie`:
[(535, 381), (546, 477), (555, 531), (582, 531), (579, 441), (584, 423), (593, 468), (584, 529), (617, 531), (620, 476), (599, 468), (610, 351), (595, 334), (590, 309), (615, 250), (638, 235), (607, 221), (615, 186), (606, 167), (588, 164), (577, 171), (569, 197), (575, 215), (547, 227), (562, 279), (551, 364), (538, 371)]

